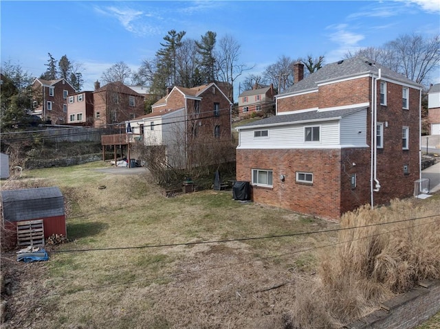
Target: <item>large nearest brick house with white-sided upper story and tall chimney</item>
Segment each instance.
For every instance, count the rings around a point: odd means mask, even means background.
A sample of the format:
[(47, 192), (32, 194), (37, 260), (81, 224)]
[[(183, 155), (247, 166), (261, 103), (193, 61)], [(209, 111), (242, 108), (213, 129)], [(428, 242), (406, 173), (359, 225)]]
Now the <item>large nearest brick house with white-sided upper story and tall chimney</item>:
[(411, 196), (420, 93), (368, 58), (325, 65), (276, 96), (275, 116), (237, 128), (236, 179), (256, 202), (324, 218)]

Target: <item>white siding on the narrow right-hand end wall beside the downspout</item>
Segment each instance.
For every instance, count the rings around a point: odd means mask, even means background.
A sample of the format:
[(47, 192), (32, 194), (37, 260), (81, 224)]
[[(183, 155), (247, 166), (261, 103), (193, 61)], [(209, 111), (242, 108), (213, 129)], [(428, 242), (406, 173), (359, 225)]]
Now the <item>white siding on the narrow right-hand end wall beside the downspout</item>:
[(365, 146), (366, 110), (353, 113), (352, 115), (347, 115), (347, 117), (342, 117), (340, 129), (342, 145)]

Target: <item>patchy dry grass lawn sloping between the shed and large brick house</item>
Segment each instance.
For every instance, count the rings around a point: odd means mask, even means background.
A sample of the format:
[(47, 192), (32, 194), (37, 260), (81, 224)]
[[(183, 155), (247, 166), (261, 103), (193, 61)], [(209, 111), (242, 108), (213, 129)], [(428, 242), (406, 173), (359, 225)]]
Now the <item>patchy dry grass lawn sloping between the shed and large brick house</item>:
[[(335, 231), (241, 240), (338, 223), (234, 201), (228, 191), (166, 198), (147, 174), (97, 170), (106, 166), (31, 170), (3, 186), (61, 188), (71, 239), (48, 262), (3, 253), (2, 272), (14, 280), (5, 328), (289, 328), (318, 259), (340, 253)], [(218, 240), (234, 241), (197, 243)]]

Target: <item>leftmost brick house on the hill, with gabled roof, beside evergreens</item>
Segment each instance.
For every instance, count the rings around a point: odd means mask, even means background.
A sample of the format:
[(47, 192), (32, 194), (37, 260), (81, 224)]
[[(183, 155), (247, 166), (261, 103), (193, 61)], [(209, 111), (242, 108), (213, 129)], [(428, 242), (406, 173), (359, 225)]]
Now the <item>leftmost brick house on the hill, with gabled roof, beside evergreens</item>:
[(35, 79), (32, 82), (33, 115), (52, 124), (66, 124), (67, 97), (76, 93), (64, 78), (57, 80)]

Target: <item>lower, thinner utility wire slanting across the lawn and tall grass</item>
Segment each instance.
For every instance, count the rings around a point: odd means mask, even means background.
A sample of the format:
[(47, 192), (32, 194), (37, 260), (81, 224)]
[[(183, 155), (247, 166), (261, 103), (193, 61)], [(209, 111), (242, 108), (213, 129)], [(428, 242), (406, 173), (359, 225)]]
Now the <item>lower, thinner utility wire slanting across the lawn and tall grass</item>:
[[(421, 217), (421, 218), (424, 218), (424, 217)], [(270, 260), (272, 258), (280, 258), (280, 257), (284, 257), (284, 256), (292, 256), (292, 255), (294, 255), (296, 253), (303, 253), (303, 252), (306, 252), (306, 251), (314, 251), (314, 250), (324, 249), (324, 248), (328, 248), (328, 247), (336, 247), (338, 245), (344, 245), (345, 243), (355, 242), (355, 241), (363, 240), (363, 239), (366, 239), (366, 238), (373, 238), (375, 236), (382, 236), (384, 234), (391, 234), (391, 233), (395, 233), (397, 231), (402, 231), (404, 229), (412, 229), (412, 228), (415, 228), (415, 227), (419, 227), (419, 226), (422, 226), (422, 225), (428, 225), (428, 224), (432, 224), (432, 223), (435, 223), (435, 222), (437, 222), (437, 220), (434, 220), (434, 221), (428, 222), (428, 223), (421, 223), (421, 224), (418, 224), (418, 225), (412, 225), (410, 227), (404, 227), (404, 228), (401, 228), (401, 229), (395, 229), (395, 230), (392, 230), (392, 231), (385, 231), (385, 232), (381, 232), (381, 233), (377, 233), (377, 234), (372, 234), (372, 235), (369, 235), (369, 236), (362, 236), (360, 238), (354, 238), (354, 239), (346, 240), (346, 241), (342, 241), (342, 242), (335, 242), (335, 243), (331, 243), (329, 245), (322, 245), (322, 246), (318, 246), (318, 247), (311, 247), (311, 248), (308, 248), (308, 249), (292, 251), (290, 253), (281, 253), (281, 254), (274, 255), (274, 256), (261, 257), (261, 258), (257, 258), (257, 259), (254, 259), (254, 260), (246, 260), (246, 261), (243, 261), (243, 262), (234, 262), (234, 263), (229, 263), (229, 264), (224, 264), (224, 265), (219, 265), (219, 266), (212, 266), (212, 267), (209, 267), (209, 268), (206, 268), (206, 269), (198, 269), (198, 270), (186, 271), (186, 272), (181, 272), (181, 273), (170, 273), (168, 275), (162, 275), (162, 276), (158, 276), (158, 277), (149, 277), (149, 278), (145, 278), (145, 279), (141, 279), (141, 280), (132, 280), (132, 281), (129, 281), (129, 282), (123, 282), (123, 283), (119, 283), (119, 284), (105, 284), (105, 285), (102, 285), (102, 286), (93, 286), (93, 287), (89, 287), (89, 288), (83, 288), (83, 289), (80, 289), (80, 290), (76, 290), (76, 291), (73, 291), (73, 292), (70, 292), (70, 293), (69, 292), (68, 293), (52, 293), (52, 294), (47, 295), (47, 296), (68, 295), (68, 294), (72, 294), (72, 293), (80, 293), (80, 292), (83, 292), (83, 291), (95, 291), (95, 290), (102, 289), (102, 288), (111, 288), (113, 286), (128, 286), (129, 284), (135, 284), (135, 283), (140, 283), (140, 282), (162, 280), (162, 279), (168, 279), (170, 277), (179, 277), (179, 276), (182, 276), (182, 275), (190, 275), (190, 274), (201, 273), (201, 272), (206, 272), (206, 271), (212, 271), (212, 270), (217, 270), (217, 269), (225, 269), (227, 267), (243, 265), (243, 264), (249, 264), (251, 262), (261, 262), (262, 260)]]

